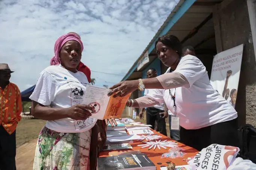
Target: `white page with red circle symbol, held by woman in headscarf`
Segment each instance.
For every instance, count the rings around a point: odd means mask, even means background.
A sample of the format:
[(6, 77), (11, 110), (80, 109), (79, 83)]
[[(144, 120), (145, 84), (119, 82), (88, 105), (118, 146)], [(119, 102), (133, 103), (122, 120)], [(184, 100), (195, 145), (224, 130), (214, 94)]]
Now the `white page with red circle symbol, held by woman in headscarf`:
[(83, 95), (83, 104), (94, 107), (95, 111), (94, 113), (92, 112), (92, 118), (103, 119), (110, 99), (107, 94), (110, 91), (110, 89), (91, 86), (89, 84), (86, 85), (86, 90)]

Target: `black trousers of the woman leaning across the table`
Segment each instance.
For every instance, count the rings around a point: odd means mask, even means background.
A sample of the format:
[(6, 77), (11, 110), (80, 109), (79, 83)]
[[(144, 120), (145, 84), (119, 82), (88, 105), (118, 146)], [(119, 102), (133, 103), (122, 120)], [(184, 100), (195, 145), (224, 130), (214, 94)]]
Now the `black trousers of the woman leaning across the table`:
[(181, 143), (201, 151), (211, 144), (238, 147), (237, 119), (214, 124), (196, 130), (181, 127)]

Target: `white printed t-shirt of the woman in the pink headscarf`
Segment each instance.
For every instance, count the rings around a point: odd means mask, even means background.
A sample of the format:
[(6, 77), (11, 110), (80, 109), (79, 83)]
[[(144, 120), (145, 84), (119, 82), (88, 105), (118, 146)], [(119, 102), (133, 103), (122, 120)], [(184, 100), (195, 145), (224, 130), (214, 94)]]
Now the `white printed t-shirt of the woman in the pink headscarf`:
[[(71, 72), (61, 65), (45, 68), (36, 81), (30, 99), (52, 108), (69, 108), (83, 102), (86, 85), (89, 84), (83, 72)], [(90, 130), (96, 123), (95, 118), (73, 120), (64, 118), (46, 122), (46, 127), (56, 132), (78, 133)]]

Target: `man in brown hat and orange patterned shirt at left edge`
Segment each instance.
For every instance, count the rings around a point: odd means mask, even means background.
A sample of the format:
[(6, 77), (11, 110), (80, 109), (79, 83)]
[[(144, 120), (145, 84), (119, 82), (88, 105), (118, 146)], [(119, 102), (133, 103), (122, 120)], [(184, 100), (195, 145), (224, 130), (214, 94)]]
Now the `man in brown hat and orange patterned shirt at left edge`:
[(16, 127), (21, 120), (20, 90), (11, 83), (11, 69), (0, 64), (0, 169), (16, 170)]

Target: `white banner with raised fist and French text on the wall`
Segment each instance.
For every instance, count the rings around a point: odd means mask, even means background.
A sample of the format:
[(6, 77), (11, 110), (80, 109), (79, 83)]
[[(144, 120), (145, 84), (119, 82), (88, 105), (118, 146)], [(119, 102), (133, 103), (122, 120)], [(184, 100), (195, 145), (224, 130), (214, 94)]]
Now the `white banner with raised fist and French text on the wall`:
[(214, 56), (211, 84), (234, 108), (238, 89), (243, 44)]

